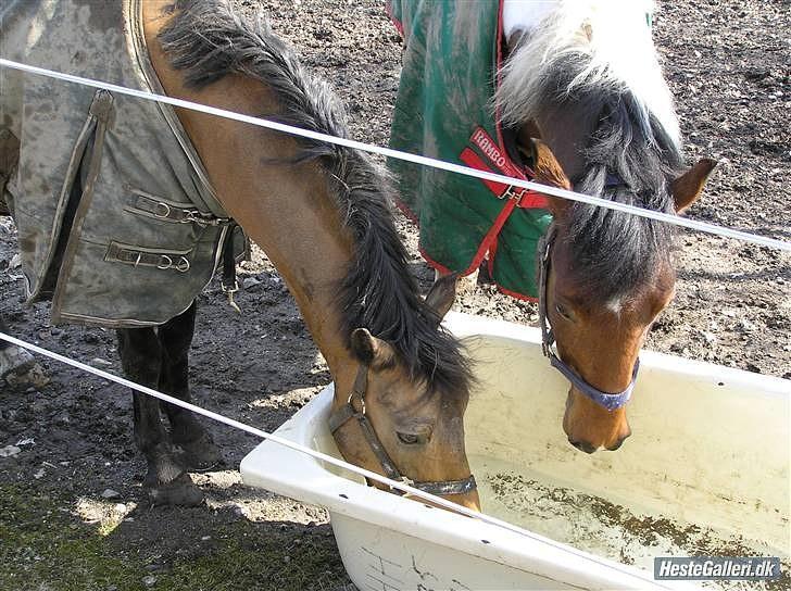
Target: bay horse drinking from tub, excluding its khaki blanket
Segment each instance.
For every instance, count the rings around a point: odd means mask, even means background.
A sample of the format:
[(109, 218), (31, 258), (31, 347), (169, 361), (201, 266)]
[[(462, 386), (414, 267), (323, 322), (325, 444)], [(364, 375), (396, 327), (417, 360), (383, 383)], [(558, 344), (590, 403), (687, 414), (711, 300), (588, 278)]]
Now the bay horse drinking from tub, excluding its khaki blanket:
[[(168, 96), (348, 135), (328, 85), (309, 75), (263, 20), (244, 23), (224, 0), (131, 7)], [(102, 17), (84, 22), (101, 26)], [(455, 280), (419, 297), (389, 210), (387, 175), (355, 150), (194, 111), (176, 114), (224, 211), (276, 266), (327, 361), (336, 391), (330, 426), (342, 455), (479, 508), (464, 451), (470, 366), (460, 341), (440, 327)], [(156, 328), (120, 328), (126, 376), (189, 400), (194, 320), (193, 302)], [(210, 467), (218, 451), (191, 413), (164, 411), (170, 433), (159, 402), (134, 393), (145, 485), (154, 502), (198, 503), (202, 493), (187, 470)]]

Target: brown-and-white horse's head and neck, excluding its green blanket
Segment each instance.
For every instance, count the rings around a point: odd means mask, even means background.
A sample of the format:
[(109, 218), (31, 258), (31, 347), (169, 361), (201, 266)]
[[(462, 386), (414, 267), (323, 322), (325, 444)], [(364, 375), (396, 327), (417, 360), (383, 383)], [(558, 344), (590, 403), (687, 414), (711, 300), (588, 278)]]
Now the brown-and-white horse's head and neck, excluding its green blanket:
[[(681, 213), (715, 162), (683, 169), (678, 122), (644, 10), (637, 2), (583, 2), (555, 9), (536, 29), (517, 27), (507, 39), (499, 105), (519, 129), (537, 176)], [(563, 428), (582, 451), (616, 450), (631, 430), (625, 407), (608, 405), (607, 394), (628, 400), (645, 336), (675, 294), (673, 228), (579, 202), (550, 199), (549, 206), (540, 316), (557, 341), (557, 365), (570, 368)], [(549, 350), (552, 343), (545, 338), (544, 344)]]

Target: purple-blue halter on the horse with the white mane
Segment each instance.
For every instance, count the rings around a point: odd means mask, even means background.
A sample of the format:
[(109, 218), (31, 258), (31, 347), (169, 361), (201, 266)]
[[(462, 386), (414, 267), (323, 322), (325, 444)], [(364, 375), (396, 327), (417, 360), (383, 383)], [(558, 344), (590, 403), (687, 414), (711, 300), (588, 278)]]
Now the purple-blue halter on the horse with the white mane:
[(635, 368), (631, 372), (631, 381), (625, 390), (620, 392), (603, 392), (598, 388), (588, 383), (579, 374), (572, 369), (566, 362), (558, 357), (552, 350), (552, 345), (555, 342), (555, 336), (552, 332), (552, 325), (550, 324), (549, 316), (547, 315), (547, 289), (549, 284), (550, 274), (550, 254), (552, 244), (555, 240), (557, 230), (554, 224), (549, 227), (547, 234), (541, 239), (539, 244), (540, 254), (540, 273), (539, 273), (539, 298), (538, 298), (538, 320), (541, 325), (541, 348), (543, 354), (549, 357), (552, 367), (563, 374), (572, 385), (577, 388), (588, 399), (592, 400), (600, 406), (603, 406), (607, 411), (615, 411), (620, 408), (631, 398), (631, 392), (635, 389), (635, 382), (637, 381), (637, 373), (640, 368), (640, 359), (635, 363)]

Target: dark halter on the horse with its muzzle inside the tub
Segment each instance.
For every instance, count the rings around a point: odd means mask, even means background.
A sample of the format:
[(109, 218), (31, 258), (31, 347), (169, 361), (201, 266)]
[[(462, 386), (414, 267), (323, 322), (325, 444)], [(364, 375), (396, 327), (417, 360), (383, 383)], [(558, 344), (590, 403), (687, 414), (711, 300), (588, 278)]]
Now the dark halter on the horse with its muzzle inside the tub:
[[(363, 435), (365, 436), (365, 439), (371, 447), (371, 451), (374, 452), (374, 455), (379, 461), (379, 464), (385, 471), (385, 476), (387, 476), (391, 480), (398, 480), (423, 492), (439, 495), (466, 494), (467, 492), (472, 492), (477, 488), (475, 477), (472, 474), (467, 478), (463, 478), (462, 480), (440, 480), (436, 482), (415, 482), (414, 480), (402, 475), (399, 471), (398, 467), (395, 467), (393, 461), (390, 460), (390, 456), (388, 455), (385, 447), (381, 444), (381, 441), (374, 430), (374, 426), (371, 424), (368, 417), (365, 414), (365, 391), (367, 389), (368, 366), (361, 365), (360, 369), (357, 369), (357, 376), (356, 378), (354, 378), (354, 386), (352, 388), (352, 393), (349, 394), (349, 400), (343, 406), (335, 411), (329, 416), (329, 430), (332, 432), (334, 436), (338, 429), (347, 424), (347, 422), (354, 418), (357, 420), (357, 424), (360, 425), (360, 428), (362, 429)], [(355, 399), (359, 402), (361, 408), (360, 411), (357, 411), (352, 403), (352, 401)], [(394, 492), (395, 494), (403, 494), (403, 492), (399, 490), (392, 490), (392, 492)]]

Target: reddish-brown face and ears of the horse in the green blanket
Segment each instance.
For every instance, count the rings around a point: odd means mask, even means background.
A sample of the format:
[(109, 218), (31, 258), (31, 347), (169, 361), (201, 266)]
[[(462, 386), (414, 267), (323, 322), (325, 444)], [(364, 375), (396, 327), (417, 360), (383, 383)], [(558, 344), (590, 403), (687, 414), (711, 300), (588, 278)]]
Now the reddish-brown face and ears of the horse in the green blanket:
[[(572, 188), (545, 143), (532, 140), (532, 151), (537, 181)], [(713, 167), (714, 161), (703, 160), (670, 184), (676, 213), (698, 199)], [(577, 204), (549, 201), (553, 224), (540, 252), (540, 315), (547, 326), (545, 353), (572, 382), (563, 428), (579, 450), (617, 450), (631, 433), (625, 404), (637, 377), (640, 348), (675, 294), (670, 253), (652, 256), (652, 268), (637, 279), (624, 278), (626, 287), (603, 299), (590, 285), (589, 269), (581, 268), (589, 263), (576, 260), (573, 248), (575, 240), (597, 240), (597, 236), (581, 236), (575, 227), (570, 211)], [(557, 356), (551, 349), (552, 337)]]

